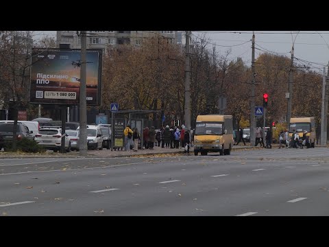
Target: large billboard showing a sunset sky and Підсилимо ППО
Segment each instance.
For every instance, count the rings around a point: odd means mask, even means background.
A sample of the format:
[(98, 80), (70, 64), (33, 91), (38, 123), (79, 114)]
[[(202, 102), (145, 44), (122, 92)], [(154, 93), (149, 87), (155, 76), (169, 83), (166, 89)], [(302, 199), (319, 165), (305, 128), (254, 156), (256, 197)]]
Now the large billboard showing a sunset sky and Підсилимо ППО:
[[(101, 103), (101, 49), (86, 53), (87, 105)], [(32, 104), (80, 104), (81, 50), (34, 50), (30, 102)]]

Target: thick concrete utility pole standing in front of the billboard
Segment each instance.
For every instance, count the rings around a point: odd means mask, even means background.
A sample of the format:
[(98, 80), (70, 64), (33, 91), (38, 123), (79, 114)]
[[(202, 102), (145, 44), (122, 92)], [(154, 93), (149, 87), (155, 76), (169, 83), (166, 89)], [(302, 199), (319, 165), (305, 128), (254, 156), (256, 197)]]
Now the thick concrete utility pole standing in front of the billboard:
[(86, 49), (87, 33), (81, 31), (81, 67), (80, 67), (80, 152), (87, 155), (87, 95), (86, 95)]

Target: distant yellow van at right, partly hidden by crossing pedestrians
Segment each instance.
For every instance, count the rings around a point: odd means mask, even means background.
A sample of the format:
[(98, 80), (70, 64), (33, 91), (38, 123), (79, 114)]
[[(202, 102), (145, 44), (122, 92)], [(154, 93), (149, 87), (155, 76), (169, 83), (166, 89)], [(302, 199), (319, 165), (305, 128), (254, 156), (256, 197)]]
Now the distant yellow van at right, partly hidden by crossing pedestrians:
[(306, 130), (306, 136), (308, 136), (310, 140), (310, 147), (315, 147), (315, 138), (317, 136), (317, 133), (315, 132), (314, 117), (291, 117), (289, 126), (289, 137), (292, 136), (293, 130), (295, 130), (300, 136), (300, 141), (302, 141), (303, 134)]

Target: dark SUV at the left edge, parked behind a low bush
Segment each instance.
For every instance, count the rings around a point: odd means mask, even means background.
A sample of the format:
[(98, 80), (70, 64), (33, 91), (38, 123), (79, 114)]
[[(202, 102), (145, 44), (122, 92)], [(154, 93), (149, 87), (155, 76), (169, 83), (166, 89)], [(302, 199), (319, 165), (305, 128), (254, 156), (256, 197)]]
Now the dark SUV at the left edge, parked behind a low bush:
[[(12, 141), (13, 138), (14, 123), (0, 124), (0, 150), (5, 143)], [(17, 123), (16, 139), (21, 140), (23, 137), (33, 139), (32, 132), (25, 124)]]

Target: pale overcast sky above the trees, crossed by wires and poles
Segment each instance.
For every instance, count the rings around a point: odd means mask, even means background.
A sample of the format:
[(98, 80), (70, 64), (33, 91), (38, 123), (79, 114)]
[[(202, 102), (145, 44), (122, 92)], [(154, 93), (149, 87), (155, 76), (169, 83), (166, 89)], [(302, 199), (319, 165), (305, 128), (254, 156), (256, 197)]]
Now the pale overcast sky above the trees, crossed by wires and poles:
[[(224, 55), (226, 51), (231, 50), (232, 60), (241, 57), (247, 64), (251, 64), (252, 31), (193, 31), (192, 36), (196, 38), (204, 33), (209, 42), (216, 45), (219, 54)], [(56, 31), (36, 31), (36, 34), (56, 37)], [(329, 61), (329, 31), (292, 31), (292, 35), (291, 31), (255, 31), (256, 58), (265, 51), (290, 58), (293, 39), (295, 62), (305, 64), (312, 70), (322, 71)]]

